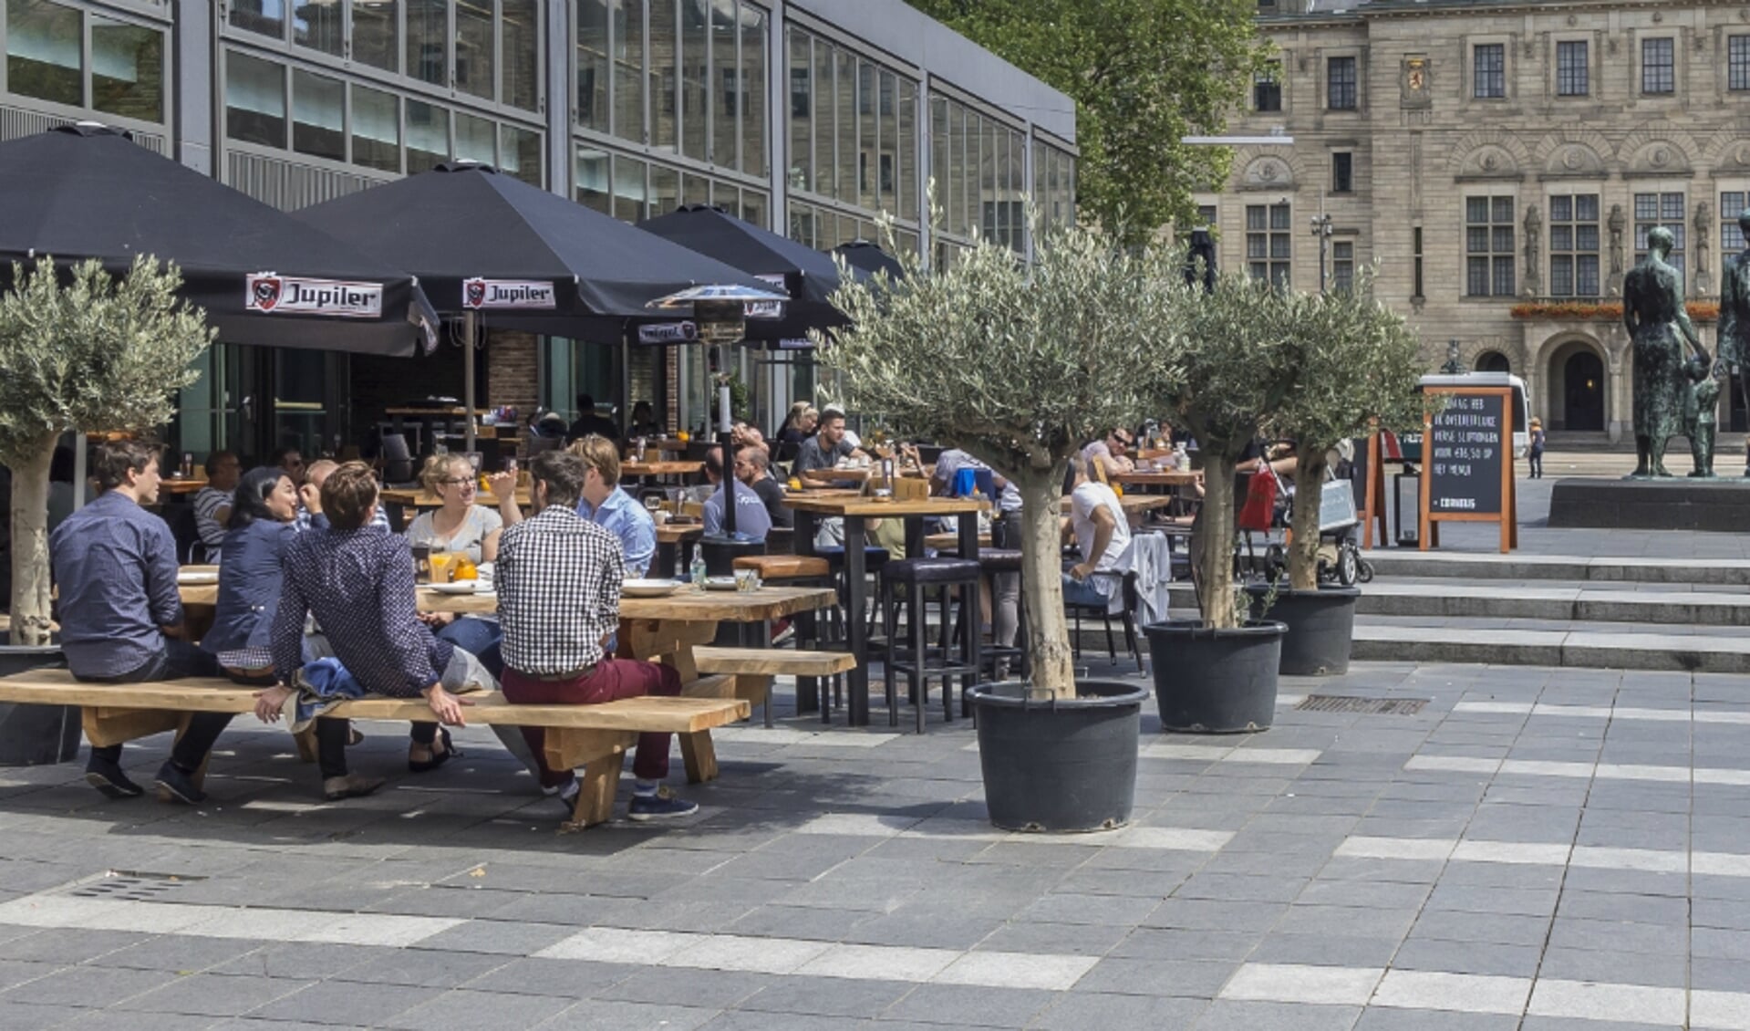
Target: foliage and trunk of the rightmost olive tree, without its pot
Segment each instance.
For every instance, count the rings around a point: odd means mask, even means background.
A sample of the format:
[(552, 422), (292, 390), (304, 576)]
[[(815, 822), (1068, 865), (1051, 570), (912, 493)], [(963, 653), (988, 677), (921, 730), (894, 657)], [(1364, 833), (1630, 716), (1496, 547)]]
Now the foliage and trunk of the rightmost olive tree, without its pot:
[[(1318, 523), (1330, 452), (1381, 425), (1421, 425), (1416, 383), (1426, 371), (1421, 343), (1404, 317), (1374, 299), (1372, 275), (1353, 291), (1311, 298), (1302, 306), (1300, 375), (1274, 425), (1295, 441), (1293, 544), (1288, 583), (1318, 588)], [(1348, 487), (1348, 485), (1342, 485)]]

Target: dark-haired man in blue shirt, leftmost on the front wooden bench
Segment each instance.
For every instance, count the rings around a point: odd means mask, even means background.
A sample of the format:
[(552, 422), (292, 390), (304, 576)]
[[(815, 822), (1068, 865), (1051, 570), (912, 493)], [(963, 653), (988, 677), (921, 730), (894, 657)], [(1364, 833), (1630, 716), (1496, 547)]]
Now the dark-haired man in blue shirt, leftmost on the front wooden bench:
[[(170, 523), (140, 508), (158, 504), (158, 448), (108, 441), (98, 448), (91, 474), (102, 494), (49, 537), (68, 670), (100, 684), (219, 676), (212, 655), (182, 641)], [(164, 795), (189, 805), (206, 798), (194, 786), (194, 770), (228, 723), (228, 712), (189, 714), (187, 730), (158, 770)], [(144, 793), (122, 774), (119, 744), (91, 749), (86, 781), (110, 798)]]

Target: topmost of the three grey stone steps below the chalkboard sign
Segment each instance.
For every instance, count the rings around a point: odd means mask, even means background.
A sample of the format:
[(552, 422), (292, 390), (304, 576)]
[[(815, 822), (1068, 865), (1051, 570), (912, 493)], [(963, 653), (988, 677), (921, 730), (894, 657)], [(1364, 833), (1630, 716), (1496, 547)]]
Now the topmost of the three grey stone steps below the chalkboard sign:
[(1416, 579), (1566, 579), (1750, 586), (1750, 558), (1640, 558), (1477, 551), (1363, 551), (1379, 576)]

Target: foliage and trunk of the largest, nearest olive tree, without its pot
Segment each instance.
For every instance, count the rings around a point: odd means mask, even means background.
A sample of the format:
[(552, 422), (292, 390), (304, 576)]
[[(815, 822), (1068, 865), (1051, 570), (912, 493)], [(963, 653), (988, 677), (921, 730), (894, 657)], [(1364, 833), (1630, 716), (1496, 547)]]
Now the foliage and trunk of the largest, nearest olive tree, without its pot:
[(931, 273), (898, 250), (898, 282), (844, 277), (833, 303), (850, 326), (821, 340), (821, 361), (852, 406), (964, 448), (1015, 483), (1031, 686), (1073, 695), (1064, 474), (1083, 441), (1138, 420), (1152, 385), (1171, 378), (1178, 259), (1092, 228), (1045, 235), (1031, 266), (990, 242)]

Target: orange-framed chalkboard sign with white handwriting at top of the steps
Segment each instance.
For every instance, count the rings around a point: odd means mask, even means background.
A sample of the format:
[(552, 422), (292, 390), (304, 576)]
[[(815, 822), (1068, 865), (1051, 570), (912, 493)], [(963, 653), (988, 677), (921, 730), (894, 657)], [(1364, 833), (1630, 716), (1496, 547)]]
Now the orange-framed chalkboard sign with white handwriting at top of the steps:
[(1426, 418), (1421, 467), (1421, 546), (1440, 543), (1442, 522), (1502, 525), (1502, 551), (1519, 544), (1514, 425), (1507, 387), (1428, 389), (1446, 408)]

